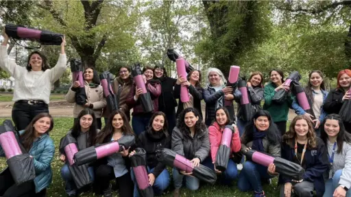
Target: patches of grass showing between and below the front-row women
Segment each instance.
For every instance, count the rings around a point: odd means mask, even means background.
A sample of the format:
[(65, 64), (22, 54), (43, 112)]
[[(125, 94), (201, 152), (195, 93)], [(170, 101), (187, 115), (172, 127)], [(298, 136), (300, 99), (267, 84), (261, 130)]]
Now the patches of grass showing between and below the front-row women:
[[(0, 97), (1, 98), (1, 97)], [(0, 122), (3, 122), (4, 118), (0, 118)], [(103, 121), (104, 122), (104, 121)], [(289, 123), (288, 123), (289, 124)], [(47, 190), (47, 196), (66, 196), (64, 192), (64, 182), (60, 176), (60, 168), (62, 162), (58, 159), (58, 145), (62, 136), (72, 127), (73, 118), (54, 118), (54, 127), (50, 135), (53, 138), (56, 146), (55, 157), (51, 163), (53, 170), (53, 182), (51, 183), (49, 189)], [(6, 167), (5, 159), (0, 159), (0, 172)], [(264, 185), (266, 196), (279, 196), (279, 189), (277, 187), (277, 178), (272, 180), (271, 185)], [(172, 183), (171, 183), (172, 184)], [(221, 185), (204, 185), (202, 184), (198, 191), (191, 192), (188, 189), (181, 189), (181, 196), (252, 196), (252, 192), (239, 192), (237, 189), (237, 184), (233, 183), (234, 186), (226, 187)], [(165, 192), (163, 196), (172, 196), (171, 189)], [(95, 196), (93, 193), (82, 194), (81, 196)], [(118, 196), (117, 192), (114, 192), (114, 196)]]

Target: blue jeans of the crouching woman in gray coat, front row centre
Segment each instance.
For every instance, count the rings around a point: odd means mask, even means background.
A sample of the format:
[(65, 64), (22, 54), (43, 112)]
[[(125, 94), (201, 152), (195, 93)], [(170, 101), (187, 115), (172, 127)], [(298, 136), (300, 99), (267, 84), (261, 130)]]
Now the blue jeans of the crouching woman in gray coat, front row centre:
[(186, 188), (193, 191), (199, 189), (200, 181), (196, 177), (184, 176), (184, 174), (180, 174), (180, 172), (175, 168), (173, 168), (172, 174), (173, 174), (173, 183), (174, 183), (175, 189), (180, 189), (180, 187), (182, 187), (183, 179), (185, 181)]

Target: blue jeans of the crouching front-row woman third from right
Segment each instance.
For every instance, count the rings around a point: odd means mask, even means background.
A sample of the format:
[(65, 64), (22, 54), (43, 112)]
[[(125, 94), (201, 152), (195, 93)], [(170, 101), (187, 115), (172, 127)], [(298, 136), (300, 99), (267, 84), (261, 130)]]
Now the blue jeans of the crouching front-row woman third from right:
[(263, 187), (261, 180), (270, 179), (267, 167), (252, 161), (245, 161), (243, 170), (241, 170), (238, 179), (238, 188), (241, 192), (248, 192), (252, 189), (256, 193), (262, 193)]

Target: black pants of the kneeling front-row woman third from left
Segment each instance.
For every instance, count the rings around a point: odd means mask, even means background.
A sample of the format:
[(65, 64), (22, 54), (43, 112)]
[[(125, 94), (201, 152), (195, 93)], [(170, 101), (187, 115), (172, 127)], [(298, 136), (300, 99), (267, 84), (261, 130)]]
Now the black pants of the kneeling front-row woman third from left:
[(118, 185), (119, 196), (121, 197), (132, 197), (134, 183), (130, 178), (130, 172), (124, 174), (123, 176), (115, 177), (114, 171), (111, 166), (106, 164), (100, 165), (95, 170), (95, 193), (101, 194), (104, 190), (108, 189), (110, 185), (110, 180), (116, 179)]

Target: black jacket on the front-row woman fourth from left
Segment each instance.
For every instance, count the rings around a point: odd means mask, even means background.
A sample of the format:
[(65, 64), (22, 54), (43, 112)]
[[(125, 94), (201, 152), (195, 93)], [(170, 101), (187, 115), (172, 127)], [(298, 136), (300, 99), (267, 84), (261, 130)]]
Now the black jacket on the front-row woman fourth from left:
[(147, 129), (138, 136), (136, 147), (145, 149), (147, 166), (149, 166), (150, 169), (154, 168), (152, 174), (154, 174), (155, 177), (165, 170), (166, 166), (157, 160), (156, 150), (161, 148), (171, 148), (170, 135), (166, 137), (163, 132), (156, 133), (152, 129)]

